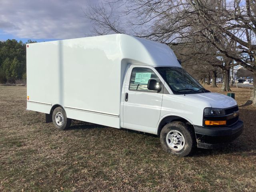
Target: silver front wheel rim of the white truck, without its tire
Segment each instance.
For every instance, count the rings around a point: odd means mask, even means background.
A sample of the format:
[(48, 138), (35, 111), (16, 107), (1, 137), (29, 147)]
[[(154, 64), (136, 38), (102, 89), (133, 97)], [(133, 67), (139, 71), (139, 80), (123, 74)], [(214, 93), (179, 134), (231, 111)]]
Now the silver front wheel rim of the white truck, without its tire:
[(174, 151), (180, 151), (185, 146), (185, 138), (181, 132), (170, 130), (166, 135), (167, 145)]

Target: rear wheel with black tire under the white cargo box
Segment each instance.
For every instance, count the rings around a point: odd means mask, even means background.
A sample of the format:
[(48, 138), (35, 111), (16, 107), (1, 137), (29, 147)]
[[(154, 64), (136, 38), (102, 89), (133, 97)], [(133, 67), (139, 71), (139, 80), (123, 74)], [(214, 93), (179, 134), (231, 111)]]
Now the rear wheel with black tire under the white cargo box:
[[(62, 118), (59, 118), (58, 121), (56, 120), (57, 116), (62, 116)], [(65, 110), (61, 107), (57, 107), (52, 112), (52, 122), (58, 130), (64, 130), (66, 128), (69, 128), (71, 125), (71, 121), (71, 119), (67, 118)]]

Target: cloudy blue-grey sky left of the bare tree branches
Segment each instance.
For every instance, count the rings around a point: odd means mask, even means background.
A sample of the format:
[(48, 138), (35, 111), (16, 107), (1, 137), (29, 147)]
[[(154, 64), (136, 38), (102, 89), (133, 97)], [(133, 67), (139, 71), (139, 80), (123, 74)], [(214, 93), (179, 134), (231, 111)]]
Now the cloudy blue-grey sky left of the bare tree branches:
[(1, 0), (0, 40), (37, 42), (90, 36), (83, 10), (101, 0)]

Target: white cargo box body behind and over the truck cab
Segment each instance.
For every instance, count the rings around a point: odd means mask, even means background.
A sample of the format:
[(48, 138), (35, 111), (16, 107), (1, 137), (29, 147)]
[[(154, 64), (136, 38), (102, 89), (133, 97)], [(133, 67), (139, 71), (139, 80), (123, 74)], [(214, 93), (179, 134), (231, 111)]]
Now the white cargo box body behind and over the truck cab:
[(163, 44), (124, 34), (27, 44), (27, 109), (120, 128), (128, 64), (179, 66)]

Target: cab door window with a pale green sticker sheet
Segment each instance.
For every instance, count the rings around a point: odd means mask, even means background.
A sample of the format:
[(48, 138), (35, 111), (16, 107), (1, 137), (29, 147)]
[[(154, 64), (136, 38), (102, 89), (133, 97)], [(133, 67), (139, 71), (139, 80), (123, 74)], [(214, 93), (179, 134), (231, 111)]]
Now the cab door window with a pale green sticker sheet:
[(148, 90), (148, 80), (150, 79), (155, 79), (158, 84), (160, 82), (158, 76), (151, 69), (142, 67), (133, 68), (129, 90), (157, 92), (154, 90)]

